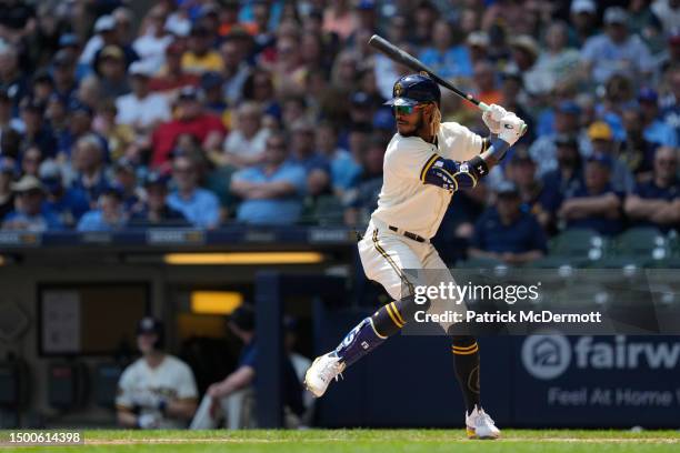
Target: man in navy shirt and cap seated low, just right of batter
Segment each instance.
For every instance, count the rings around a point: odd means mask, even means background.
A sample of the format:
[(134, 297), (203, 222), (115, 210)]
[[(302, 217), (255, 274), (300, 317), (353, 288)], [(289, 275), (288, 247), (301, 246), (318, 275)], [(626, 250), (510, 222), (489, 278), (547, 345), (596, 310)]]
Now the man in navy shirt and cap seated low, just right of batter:
[(521, 209), (522, 200), (513, 182), (496, 190), (496, 205), (482, 213), (474, 225), (468, 254), (491, 258), (507, 264), (524, 264), (547, 251), (546, 235), (536, 217)]

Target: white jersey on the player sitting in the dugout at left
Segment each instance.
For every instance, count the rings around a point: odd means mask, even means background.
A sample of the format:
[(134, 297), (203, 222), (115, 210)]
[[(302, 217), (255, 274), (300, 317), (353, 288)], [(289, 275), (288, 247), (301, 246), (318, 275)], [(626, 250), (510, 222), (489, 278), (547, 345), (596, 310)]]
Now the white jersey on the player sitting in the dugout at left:
[(132, 410), (141, 406), (140, 415), (159, 417), (161, 429), (187, 427), (181, 420), (162, 416), (159, 410), (147, 407), (149, 401), (197, 399), (198, 390), (189, 365), (173, 355), (166, 354), (157, 368), (149, 366), (141, 358), (123, 371), (118, 383), (116, 405)]

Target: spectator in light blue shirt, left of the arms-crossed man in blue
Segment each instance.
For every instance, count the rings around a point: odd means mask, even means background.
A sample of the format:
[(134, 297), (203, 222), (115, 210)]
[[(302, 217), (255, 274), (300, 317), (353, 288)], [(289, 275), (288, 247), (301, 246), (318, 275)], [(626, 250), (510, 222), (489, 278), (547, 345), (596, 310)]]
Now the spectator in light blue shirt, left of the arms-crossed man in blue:
[(168, 205), (197, 228), (213, 229), (220, 223), (220, 201), (217, 195), (199, 187), (197, 162), (184, 154), (172, 161), (176, 189), (168, 195)]

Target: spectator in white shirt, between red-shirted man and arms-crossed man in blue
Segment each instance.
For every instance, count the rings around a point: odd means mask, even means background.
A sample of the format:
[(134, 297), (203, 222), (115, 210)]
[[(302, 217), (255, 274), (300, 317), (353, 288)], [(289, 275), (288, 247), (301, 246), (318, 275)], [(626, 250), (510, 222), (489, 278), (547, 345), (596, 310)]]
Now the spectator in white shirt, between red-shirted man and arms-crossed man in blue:
[(262, 111), (256, 102), (239, 105), (234, 129), (227, 135), (222, 152), (212, 153), (217, 165), (250, 167), (262, 162), (270, 130), (262, 127)]

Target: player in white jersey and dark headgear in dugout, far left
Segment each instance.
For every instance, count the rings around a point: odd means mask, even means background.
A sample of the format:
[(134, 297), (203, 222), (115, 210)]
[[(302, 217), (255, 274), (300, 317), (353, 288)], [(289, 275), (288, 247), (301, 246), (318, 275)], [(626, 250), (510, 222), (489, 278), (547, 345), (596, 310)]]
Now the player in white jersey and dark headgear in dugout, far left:
[(116, 409), (124, 427), (181, 429), (193, 416), (198, 390), (189, 365), (163, 351), (163, 324), (143, 318), (137, 326), (142, 356), (118, 381)]

